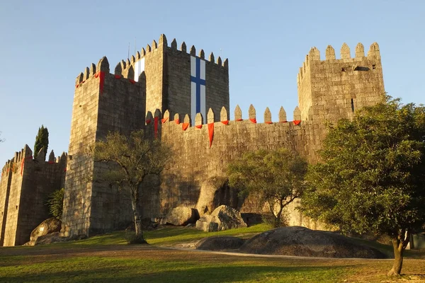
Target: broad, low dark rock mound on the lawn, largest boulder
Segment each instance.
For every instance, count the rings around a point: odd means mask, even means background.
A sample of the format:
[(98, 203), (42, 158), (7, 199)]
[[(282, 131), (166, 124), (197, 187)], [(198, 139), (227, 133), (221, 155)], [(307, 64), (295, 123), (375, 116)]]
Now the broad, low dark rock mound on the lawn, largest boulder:
[(239, 249), (242, 253), (297, 255), (323, 258), (386, 258), (379, 250), (363, 246), (335, 232), (292, 226), (254, 236)]

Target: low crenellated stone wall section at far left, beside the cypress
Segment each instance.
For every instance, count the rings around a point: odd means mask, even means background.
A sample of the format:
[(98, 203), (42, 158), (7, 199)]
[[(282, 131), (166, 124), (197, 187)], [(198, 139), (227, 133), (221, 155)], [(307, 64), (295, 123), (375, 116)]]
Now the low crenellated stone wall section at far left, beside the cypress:
[(29, 241), (31, 231), (49, 217), (47, 197), (64, 187), (66, 155), (56, 161), (53, 156), (53, 161), (46, 162), (33, 160), (32, 154), (26, 146), (4, 168), (0, 182), (0, 246)]

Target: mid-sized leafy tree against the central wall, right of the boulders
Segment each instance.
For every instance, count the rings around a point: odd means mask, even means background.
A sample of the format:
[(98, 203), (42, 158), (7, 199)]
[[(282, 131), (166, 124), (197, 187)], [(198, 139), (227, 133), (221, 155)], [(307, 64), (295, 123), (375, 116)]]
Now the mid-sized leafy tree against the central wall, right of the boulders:
[(229, 185), (245, 195), (257, 194), (260, 205), (268, 203), (277, 227), (282, 224), (283, 209), (302, 195), (307, 162), (287, 149), (261, 149), (246, 152), (230, 163), (227, 173)]

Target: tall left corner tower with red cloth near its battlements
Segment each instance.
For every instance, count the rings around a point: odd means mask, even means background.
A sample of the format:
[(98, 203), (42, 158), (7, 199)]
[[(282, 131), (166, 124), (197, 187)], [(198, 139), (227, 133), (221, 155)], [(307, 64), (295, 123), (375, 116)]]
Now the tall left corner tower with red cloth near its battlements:
[(107, 231), (128, 221), (128, 196), (100, 183), (108, 166), (95, 163), (89, 150), (109, 131), (130, 134), (144, 127), (145, 73), (137, 82), (129, 78), (134, 70), (123, 64), (109, 74), (106, 57), (77, 78), (62, 216), (65, 235)]

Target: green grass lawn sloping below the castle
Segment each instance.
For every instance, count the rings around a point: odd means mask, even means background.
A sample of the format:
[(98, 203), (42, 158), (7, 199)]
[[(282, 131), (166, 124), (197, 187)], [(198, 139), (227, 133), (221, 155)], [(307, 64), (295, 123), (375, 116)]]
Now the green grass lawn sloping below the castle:
[[(402, 279), (387, 279), (392, 260), (261, 258), (161, 246), (205, 236), (242, 236), (265, 225), (217, 233), (165, 228), (146, 233), (150, 245), (126, 245), (117, 232), (69, 243), (0, 248), (0, 282), (425, 282), (423, 253), (409, 253)], [(414, 256), (415, 258), (412, 258)]]

